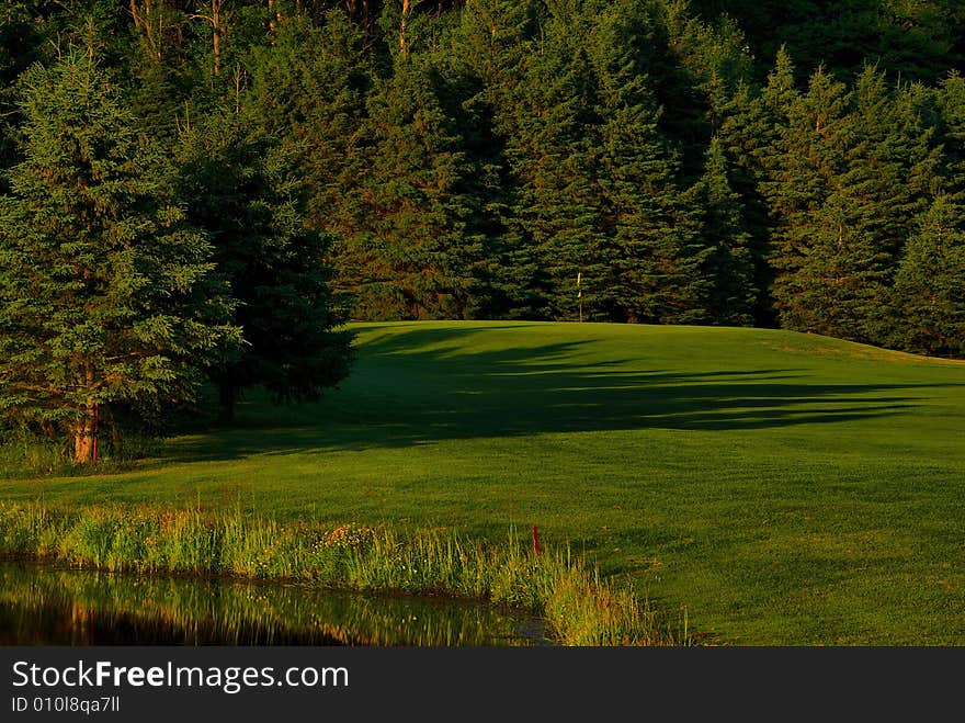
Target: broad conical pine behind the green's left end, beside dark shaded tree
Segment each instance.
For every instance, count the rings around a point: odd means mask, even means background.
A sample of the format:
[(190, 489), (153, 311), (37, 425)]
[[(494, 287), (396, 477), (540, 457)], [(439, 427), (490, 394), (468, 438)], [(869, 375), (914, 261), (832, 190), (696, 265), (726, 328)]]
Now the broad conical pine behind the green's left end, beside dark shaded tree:
[(483, 238), (463, 138), (431, 64), (398, 57), (368, 98), (349, 159), (356, 179), (334, 249), (338, 284), (361, 318), (470, 315)]

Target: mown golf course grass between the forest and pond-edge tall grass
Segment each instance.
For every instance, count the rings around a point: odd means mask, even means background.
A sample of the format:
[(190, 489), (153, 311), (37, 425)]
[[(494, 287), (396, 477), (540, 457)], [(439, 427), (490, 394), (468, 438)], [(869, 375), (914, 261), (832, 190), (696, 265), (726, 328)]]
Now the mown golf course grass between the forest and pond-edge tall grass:
[(360, 325), (317, 405), (242, 406), (0, 499), (538, 524), (737, 644), (965, 644), (965, 364), (756, 329)]

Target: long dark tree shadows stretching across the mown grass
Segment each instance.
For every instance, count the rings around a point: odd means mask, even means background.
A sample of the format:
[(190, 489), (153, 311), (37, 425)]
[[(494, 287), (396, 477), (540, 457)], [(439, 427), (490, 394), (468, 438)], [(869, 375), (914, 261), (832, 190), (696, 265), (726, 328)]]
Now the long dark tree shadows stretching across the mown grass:
[[(500, 328), (518, 327), (487, 331)], [(376, 336), (349, 382), (321, 402), (242, 405), (232, 428), (177, 440), (170, 453), (225, 460), (547, 432), (835, 423), (907, 411), (915, 389), (942, 386), (828, 384), (787, 369), (639, 369), (638, 360), (590, 357), (593, 340), (477, 350), (468, 336), (478, 332), (413, 327)]]

